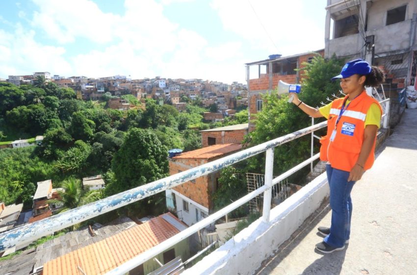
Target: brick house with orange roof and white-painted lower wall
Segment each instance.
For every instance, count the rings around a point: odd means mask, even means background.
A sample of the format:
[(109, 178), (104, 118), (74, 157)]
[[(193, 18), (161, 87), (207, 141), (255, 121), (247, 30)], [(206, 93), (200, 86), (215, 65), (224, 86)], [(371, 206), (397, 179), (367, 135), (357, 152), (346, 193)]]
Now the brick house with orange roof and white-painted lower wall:
[[(242, 148), (241, 144), (217, 144), (189, 151), (169, 159), (169, 174), (174, 175), (225, 157)], [(166, 205), (187, 225), (207, 217), (213, 210), (212, 194), (218, 188), (220, 172), (214, 172), (166, 190)]]

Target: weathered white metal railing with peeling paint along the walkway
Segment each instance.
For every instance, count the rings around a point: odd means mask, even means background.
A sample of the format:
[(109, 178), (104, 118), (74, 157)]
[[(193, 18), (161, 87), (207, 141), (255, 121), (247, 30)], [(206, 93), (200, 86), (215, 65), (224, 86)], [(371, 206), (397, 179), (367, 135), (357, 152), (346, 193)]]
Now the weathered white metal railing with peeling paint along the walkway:
[[(385, 113), (383, 114), (383, 125), (384, 128), (389, 127), (389, 113), (390, 113), (390, 99), (381, 101), (380, 103), (385, 103)], [(168, 240), (156, 245), (155, 247), (150, 248), (149, 250), (137, 255), (136, 257), (130, 259), (129, 261), (118, 266), (114, 270), (108, 272), (107, 274), (111, 275), (122, 275), (128, 273), (130, 270), (135, 267), (143, 264), (144, 262), (153, 259), (156, 255), (162, 253), (168, 248), (176, 245), (185, 238), (191, 236), (192, 234), (198, 232), (200, 229), (212, 224), (216, 220), (226, 216), (228, 213), (232, 212), (239, 206), (247, 203), (254, 197), (263, 193), (263, 211), (262, 211), (262, 220), (265, 223), (269, 222), (269, 213), (271, 206), (271, 194), (272, 186), (284, 180), (288, 176), (292, 175), (296, 171), (300, 170), (306, 165), (312, 164), (313, 161), (319, 158), (319, 154), (313, 155), (308, 160), (294, 166), (285, 173), (279, 175), (273, 179), (273, 156), (274, 148), (287, 143), (291, 140), (303, 137), (319, 129), (326, 127), (327, 121), (321, 122), (319, 124), (312, 125), (310, 127), (298, 130), (294, 133), (285, 135), (283, 137), (275, 138), (270, 141), (261, 143), (259, 145), (253, 146), (251, 148), (242, 150), (235, 154), (229, 155), (227, 157), (221, 158), (219, 160), (210, 162), (208, 164), (200, 165), (189, 170), (183, 171), (181, 173), (148, 183), (146, 185), (121, 192), (99, 201), (83, 205), (76, 209), (66, 211), (64, 213), (52, 216), (50, 218), (36, 221), (34, 223), (26, 224), (21, 227), (15, 228), (13, 230), (4, 232), (0, 234), (0, 251), (5, 249), (18, 246), (19, 244), (28, 244), (33, 242), (43, 236), (51, 235), (53, 232), (64, 229), (71, 225), (77, 224), (79, 222), (92, 219), (96, 216), (102, 215), (106, 212), (115, 210), (117, 208), (126, 206), (130, 203), (139, 201), (143, 198), (154, 195), (158, 192), (163, 192), (167, 189), (178, 186), (187, 181), (199, 178), (204, 175), (208, 175), (215, 171), (219, 171), (222, 168), (236, 164), (242, 160), (248, 159), (250, 157), (256, 156), (263, 152), (266, 152), (266, 161), (265, 161), (265, 181), (264, 185), (259, 189), (248, 193), (247, 195), (241, 197), (230, 205), (224, 207), (223, 209), (209, 215), (209, 217), (198, 221), (197, 223), (191, 225), (175, 236), (169, 238)], [(312, 146), (313, 148), (313, 146)]]

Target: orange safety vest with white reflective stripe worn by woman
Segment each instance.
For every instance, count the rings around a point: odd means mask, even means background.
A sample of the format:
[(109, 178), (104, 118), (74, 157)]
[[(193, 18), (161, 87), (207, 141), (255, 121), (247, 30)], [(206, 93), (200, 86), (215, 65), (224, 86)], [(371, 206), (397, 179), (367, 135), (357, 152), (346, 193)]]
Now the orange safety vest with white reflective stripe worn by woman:
[[(335, 129), (343, 102), (347, 97), (336, 99), (332, 103), (329, 119), (327, 120), (327, 135), (320, 139), (320, 160), (328, 161), (333, 168), (350, 172), (358, 160), (364, 142), (366, 113), (372, 103), (378, 104), (381, 113), (382, 108), (377, 100), (363, 91), (350, 102), (347, 108), (345, 107), (337, 125), (336, 136), (331, 141), (330, 137)], [(375, 143), (376, 137), (365, 162), (365, 170), (369, 169), (375, 160)]]

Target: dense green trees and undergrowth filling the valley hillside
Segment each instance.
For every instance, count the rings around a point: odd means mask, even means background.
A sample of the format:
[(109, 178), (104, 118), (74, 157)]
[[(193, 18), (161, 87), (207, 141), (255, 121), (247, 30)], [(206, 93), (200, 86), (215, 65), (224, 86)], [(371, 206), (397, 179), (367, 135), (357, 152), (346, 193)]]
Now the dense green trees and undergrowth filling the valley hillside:
[[(243, 123), (245, 117), (247, 122), (243, 110), (236, 120), (205, 123), (203, 112), (208, 110), (200, 106), (201, 100), (190, 101), (180, 113), (150, 99), (143, 106), (127, 94), (122, 98), (133, 107), (120, 111), (107, 107), (113, 97), (105, 93), (101, 101), (78, 100), (71, 88), (59, 88), (42, 77), (33, 85), (0, 83), (0, 141), (44, 136), (42, 146), (0, 150), (0, 201), (24, 202), (25, 209), (30, 208), (36, 182), (52, 179), (54, 188), (71, 191), (64, 204), (74, 208), (100, 197), (79, 190), (82, 177), (103, 174), (103, 195), (125, 191), (167, 176), (168, 149), (200, 148), (199, 130)], [(163, 211), (155, 207), (161, 200), (150, 198), (134, 209), (157, 214)]]

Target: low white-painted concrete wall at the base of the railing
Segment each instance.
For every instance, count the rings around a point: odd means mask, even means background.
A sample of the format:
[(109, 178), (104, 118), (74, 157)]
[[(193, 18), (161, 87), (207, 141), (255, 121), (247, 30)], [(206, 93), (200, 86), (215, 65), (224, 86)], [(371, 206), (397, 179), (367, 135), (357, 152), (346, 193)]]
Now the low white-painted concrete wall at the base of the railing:
[(283, 203), (271, 209), (270, 222), (262, 218), (240, 231), (235, 237), (182, 273), (183, 275), (249, 275), (280, 249), (293, 232), (329, 195), (323, 173)]

